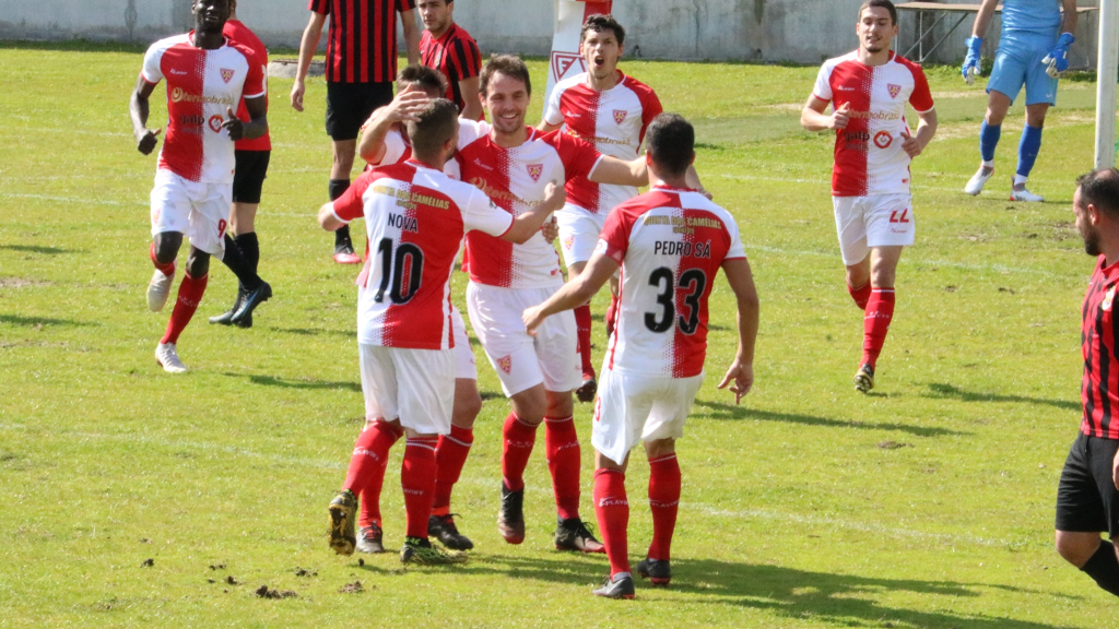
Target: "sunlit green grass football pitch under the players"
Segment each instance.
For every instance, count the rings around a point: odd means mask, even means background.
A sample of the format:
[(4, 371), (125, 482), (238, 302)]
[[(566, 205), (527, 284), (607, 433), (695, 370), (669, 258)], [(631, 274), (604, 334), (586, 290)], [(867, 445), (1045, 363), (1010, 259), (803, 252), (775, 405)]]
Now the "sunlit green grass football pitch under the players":
[[(1119, 626), (1113, 599), (1052, 550), (1080, 421), (1093, 261), (1071, 198), (1092, 162), (1092, 83), (1062, 83), (1031, 179), (1049, 203), (1025, 205), (1006, 200), (1021, 105), (997, 177), (968, 197), (985, 95), (953, 68), (929, 71), (941, 126), (914, 165), (918, 243), (864, 396), (850, 386), (862, 316), (843, 284), (831, 140), (798, 125), (816, 68), (623, 65), (696, 123), (697, 167), (740, 222), (762, 322), (756, 385), (736, 407), (714, 386), (734, 351), (720, 280), (708, 379), (678, 445), (673, 586), (639, 582), (639, 600), (622, 603), (590, 595), (604, 557), (552, 550), (543, 445), (528, 537), (498, 536), (508, 404), (477, 346), (487, 402), (454, 505), (472, 561), (405, 570), (394, 554), (363, 565), (327, 547), (326, 506), (364, 411), (356, 269), (329, 260), (314, 220), (330, 162), (321, 79), (302, 114), (286, 104), (291, 82), (272, 82), (257, 231), (275, 297), (252, 330), (207, 325), (235, 287), (215, 263), (179, 344), (191, 372), (154, 365), (168, 317), (144, 302), (156, 159), (135, 151), (128, 119), (141, 54), (0, 45), (0, 627)], [(544, 63), (532, 68), (543, 86)], [(455, 278), (460, 303), (464, 285)], [(600, 321), (604, 308), (600, 295)], [(595, 342), (599, 360), (601, 325)], [(593, 519), (590, 416), (577, 407)], [(401, 450), (384, 495), (391, 547), (403, 541)], [(647, 470), (634, 454), (634, 562), (651, 533)], [(340, 592), (355, 581), (361, 593)], [(263, 584), (297, 597), (258, 598)]]

